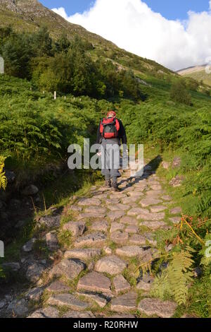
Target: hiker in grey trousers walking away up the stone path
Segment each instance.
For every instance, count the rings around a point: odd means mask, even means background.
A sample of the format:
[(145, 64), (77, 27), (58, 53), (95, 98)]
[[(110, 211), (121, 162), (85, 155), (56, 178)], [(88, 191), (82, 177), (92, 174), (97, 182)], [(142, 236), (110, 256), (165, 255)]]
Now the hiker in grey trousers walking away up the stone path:
[(106, 188), (118, 191), (117, 177), (120, 177), (120, 146), (127, 144), (127, 136), (117, 114), (110, 110), (98, 126), (97, 143), (101, 144), (101, 172), (105, 176)]

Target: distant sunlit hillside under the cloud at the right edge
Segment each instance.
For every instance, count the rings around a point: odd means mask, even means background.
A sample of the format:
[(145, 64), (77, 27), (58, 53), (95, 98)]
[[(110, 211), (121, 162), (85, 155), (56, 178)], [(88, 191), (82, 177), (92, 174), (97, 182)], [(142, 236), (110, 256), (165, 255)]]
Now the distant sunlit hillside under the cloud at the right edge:
[(187, 78), (194, 78), (198, 82), (203, 82), (204, 84), (211, 86), (211, 73), (206, 73), (204, 66), (195, 66), (186, 69), (181, 69), (177, 71), (179, 75), (187, 77)]

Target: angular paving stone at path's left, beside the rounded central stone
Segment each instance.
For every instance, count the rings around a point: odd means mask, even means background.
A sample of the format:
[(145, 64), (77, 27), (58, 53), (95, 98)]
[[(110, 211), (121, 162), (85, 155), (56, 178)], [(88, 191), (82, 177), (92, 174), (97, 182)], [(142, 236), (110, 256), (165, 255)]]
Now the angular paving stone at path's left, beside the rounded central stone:
[(53, 276), (60, 277), (64, 275), (66, 278), (73, 280), (81, 273), (86, 265), (77, 259), (63, 259), (60, 263), (53, 266), (49, 272), (50, 278)]

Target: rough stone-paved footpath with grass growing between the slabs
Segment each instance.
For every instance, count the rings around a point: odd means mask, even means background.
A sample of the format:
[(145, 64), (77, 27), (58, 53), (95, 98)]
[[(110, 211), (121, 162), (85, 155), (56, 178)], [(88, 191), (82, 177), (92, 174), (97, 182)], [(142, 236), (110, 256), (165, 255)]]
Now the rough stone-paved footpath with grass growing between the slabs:
[[(39, 220), (46, 227), (47, 247), (59, 255), (44, 274), (40, 262), (34, 268), (36, 278), (33, 268), (28, 271), (37, 286), (13, 301), (9, 308), (13, 314), (43, 318), (135, 317), (137, 312), (140, 316), (174, 315), (177, 304), (150, 297), (152, 275), (132, 280), (129, 271), (137, 255), (142, 262), (152, 259), (156, 252), (153, 232), (173, 227), (181, 210), (169, 208), (172, 200), (150, 167), (139, 178), (123, 173), (120, 189), (93, 187), (89, 196), (65, 208), (74, 218), (63, 226), (58, 216)], [(66, 249), (58, 249), (61, 230), (72, 233), (72, 244)], [(37, 301), (34, 312), (27, 309), (29, 299)]]

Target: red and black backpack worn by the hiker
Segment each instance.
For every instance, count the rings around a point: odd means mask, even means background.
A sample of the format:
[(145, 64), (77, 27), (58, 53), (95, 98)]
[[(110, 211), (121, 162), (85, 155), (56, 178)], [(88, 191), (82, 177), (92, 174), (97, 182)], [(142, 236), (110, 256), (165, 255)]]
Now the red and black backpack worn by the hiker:
[(103, 138), (117, 138), (120, 122), (115, 117), (101, 120), (100, 132)]

